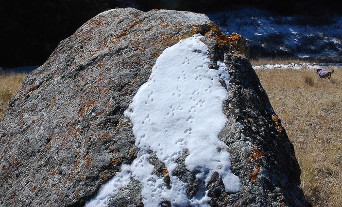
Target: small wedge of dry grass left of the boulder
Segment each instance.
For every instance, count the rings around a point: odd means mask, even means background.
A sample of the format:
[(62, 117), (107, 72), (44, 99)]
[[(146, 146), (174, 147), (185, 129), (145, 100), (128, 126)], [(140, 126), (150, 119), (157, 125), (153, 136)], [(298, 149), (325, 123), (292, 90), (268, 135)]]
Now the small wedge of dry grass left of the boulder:
[(5, 115), (8, 102), (16, 94), (25, 74), (0, 74), (0, 121)]

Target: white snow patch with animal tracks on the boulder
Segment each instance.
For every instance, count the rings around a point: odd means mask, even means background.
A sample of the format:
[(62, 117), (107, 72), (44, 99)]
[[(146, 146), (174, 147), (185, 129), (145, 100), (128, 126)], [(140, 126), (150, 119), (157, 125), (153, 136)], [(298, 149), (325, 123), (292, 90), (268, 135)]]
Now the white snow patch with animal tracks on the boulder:
[[(172, 176), (176, 160), (188, 149), (187, 169), (196, 172), (197, 179), (207, 183), (218, 172), (227, 192), (238, 192), (239, 177), (230, 170), (230, 154), (218, 139), (227, 121), (222, 102), (228, 98), (229, 74), (218, 61), (218, 70), (208, 68), (207, 47), (194, 35), (165, 49), (158, 57), (152, 74), (137, 91), (125, 115), (133, 123), (137, 159), (106, 183), (96, 198), (86, 206), (107, 206), (110, 197), (130, 182), (130, 177), (142, 184), (143, 203), (147, 207), (170, 201), (172, 206), (208, 206), (208, 191), (189, 199), (187, 184)], [(226, 89), (219, 80), (223, 79)], [(148, 162), (152, 150), (165, 163), (171, 178), (168, 189), (163, 177), (153, 174)]]

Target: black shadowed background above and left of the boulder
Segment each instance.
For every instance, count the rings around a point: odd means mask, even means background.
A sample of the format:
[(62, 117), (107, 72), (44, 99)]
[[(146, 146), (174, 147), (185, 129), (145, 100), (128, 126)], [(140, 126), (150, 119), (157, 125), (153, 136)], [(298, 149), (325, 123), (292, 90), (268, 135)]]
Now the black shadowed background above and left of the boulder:
[(194, 12), (256, 6), (279, 15), (341, 14), (335, 1), (298, 0), (0, 0), (0, 66), (42, 64), (56, 45), (91, 17), (116, 7)]

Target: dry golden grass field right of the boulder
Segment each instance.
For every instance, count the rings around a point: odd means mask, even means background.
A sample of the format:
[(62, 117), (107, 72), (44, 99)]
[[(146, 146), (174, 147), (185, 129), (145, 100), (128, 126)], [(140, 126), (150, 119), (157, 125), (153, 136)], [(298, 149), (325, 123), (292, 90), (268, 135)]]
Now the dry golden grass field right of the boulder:
[(342, 207), (342, 70), (256, 70), (292, 141), (315, 207)]

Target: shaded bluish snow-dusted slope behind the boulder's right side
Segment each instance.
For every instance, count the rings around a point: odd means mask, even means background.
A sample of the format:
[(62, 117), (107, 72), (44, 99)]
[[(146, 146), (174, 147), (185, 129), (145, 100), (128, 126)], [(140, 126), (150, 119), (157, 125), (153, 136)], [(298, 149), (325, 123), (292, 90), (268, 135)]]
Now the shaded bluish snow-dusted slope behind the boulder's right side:
[(224, 33), (237, 32), (248, 39), (251, 58), (278, 56), (341, 61), (342, 16), (318, 24), (308, 16), (276, 16), (255, 8), (207, 15)]

